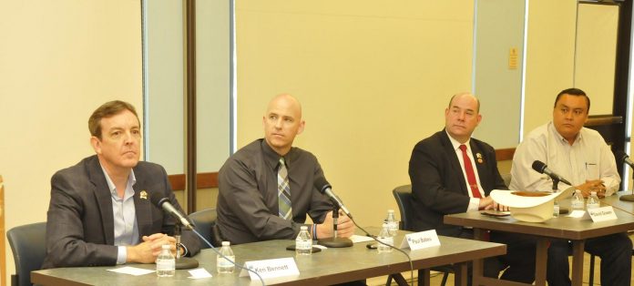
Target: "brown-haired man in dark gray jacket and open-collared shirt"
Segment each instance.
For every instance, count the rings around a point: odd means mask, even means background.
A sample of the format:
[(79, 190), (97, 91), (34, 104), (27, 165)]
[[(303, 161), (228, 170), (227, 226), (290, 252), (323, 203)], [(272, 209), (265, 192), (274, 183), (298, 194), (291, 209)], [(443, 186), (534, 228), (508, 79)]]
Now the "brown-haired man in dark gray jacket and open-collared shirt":
[[(46, 223), (43, 269), (152, 263), (174, 239), (175, 220), (150, 198), (168, 198), (181, 210), (165, 169), (139, 162), (141, 128), (135, 108), (122, 101), (98, 107), (88, 120), (97, 155), (56, 172)], [(184, 231), (180, 253), (199, 251)]]

